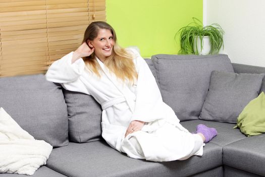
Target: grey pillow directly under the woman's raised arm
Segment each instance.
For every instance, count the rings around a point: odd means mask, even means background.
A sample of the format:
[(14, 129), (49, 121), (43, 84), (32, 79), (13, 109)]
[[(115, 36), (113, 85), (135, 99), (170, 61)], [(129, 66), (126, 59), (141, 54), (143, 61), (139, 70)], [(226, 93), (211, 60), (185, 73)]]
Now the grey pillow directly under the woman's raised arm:
[(68, 110), (69, 141), (92, 142), (101, 139), (101, 106), (86, 94), (64, 90)]

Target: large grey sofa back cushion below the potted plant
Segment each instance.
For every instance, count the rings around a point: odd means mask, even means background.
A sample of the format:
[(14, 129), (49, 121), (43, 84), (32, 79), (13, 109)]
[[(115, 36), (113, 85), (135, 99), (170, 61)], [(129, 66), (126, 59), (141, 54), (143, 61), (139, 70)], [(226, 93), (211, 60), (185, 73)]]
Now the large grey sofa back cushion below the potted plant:
[(214, 70), (234, 72), (227, 55), (154, 55), (163, 101), (180, 121), (198, 119)]

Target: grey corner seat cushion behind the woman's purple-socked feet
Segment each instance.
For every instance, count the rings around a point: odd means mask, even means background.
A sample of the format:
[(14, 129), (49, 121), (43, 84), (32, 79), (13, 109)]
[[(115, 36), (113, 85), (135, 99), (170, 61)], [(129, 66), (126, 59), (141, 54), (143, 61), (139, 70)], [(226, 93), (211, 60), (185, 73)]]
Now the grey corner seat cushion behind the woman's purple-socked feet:
[(239, 129), (233, 128), (236, 125), (234, 123), (224, 123), (206, 120), (189, 120), (180, 123), (190, 132), (195, 132), (196, 126), (200, 123), (205, 124), (209, 127), (216, 128), (218, 135), (213, 140), (211, 140), (210, 143), (217, 144), (221, 147), (246, 138), (246, 136), (243, 135)]

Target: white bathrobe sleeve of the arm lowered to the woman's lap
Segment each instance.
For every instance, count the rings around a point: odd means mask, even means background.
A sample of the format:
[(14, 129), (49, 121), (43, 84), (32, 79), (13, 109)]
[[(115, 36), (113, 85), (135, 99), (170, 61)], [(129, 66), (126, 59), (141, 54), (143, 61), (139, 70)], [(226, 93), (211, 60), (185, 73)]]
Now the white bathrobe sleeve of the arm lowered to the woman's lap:
[(172, 108), (163, 102), (160, 90), (149, 66), (139, 53), (136, 56), (136, 70), (138, 72), (137, 94), (131, 121), (153, 122), (161, 119), (178, 121)]

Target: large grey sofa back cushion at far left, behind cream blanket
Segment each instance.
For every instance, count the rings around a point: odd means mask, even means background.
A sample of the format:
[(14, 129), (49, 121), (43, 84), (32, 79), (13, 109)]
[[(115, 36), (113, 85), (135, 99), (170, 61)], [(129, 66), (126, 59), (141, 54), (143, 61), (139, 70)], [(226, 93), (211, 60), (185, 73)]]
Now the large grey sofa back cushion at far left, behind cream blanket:
[(43, 74), (0, 78), (0, 107), (35, 139), (54, 147), (68, 145), (61, 86), (46, 81)]

